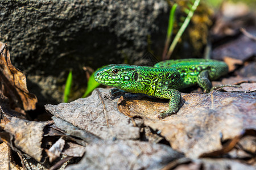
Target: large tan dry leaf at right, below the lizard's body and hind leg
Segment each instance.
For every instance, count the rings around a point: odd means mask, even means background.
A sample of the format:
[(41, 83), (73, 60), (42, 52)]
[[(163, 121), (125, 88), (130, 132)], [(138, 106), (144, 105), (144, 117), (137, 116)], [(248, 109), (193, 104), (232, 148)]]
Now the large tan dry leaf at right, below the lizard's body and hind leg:
[(256, 130), (256, 93), (214, 91), (184, 96), (177, 114), (164, 120), (145, 118), (144, 124), (190, 158), (221, 150), (222, 140), (233, 139), (243, 130)]

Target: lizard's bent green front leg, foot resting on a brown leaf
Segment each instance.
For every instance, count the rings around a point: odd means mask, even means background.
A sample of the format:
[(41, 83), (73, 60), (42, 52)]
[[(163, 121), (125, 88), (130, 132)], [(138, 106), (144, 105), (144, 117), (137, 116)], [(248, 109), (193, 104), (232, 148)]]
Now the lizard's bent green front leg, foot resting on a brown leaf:
[(166, 89), (158, 91), (157, 97), (170, 99), (169, 108), (166, 112), (160, 113), (158, 118), (164, 118), (177, 113), (180, 104), (180, 92), (175, 89)]

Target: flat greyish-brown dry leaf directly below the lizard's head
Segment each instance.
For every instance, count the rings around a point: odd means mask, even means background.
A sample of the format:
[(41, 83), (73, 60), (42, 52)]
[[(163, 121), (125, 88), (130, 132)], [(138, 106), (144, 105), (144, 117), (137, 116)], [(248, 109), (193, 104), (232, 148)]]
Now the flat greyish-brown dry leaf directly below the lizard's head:
[(99, 138), (138, 139), (139, 128), (134, 127), (129, 117), (118, 112), (116, 105), (117, 100), (110, 100), (108, 89), (98, 88), (98, 91), (94, 90), (91, 96), (84, 99), (58, 105), (48, 104), (45, 107), (55, 117)]

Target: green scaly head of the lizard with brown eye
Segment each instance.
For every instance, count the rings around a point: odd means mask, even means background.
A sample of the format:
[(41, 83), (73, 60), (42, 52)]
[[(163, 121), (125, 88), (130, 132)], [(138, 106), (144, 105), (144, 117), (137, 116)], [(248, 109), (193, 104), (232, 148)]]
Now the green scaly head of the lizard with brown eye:
[(96, 82), (106, 86), (120, 88), (122, 84), (129, 84), (138, 79), (135, 66), (131, 65), (109, 65), (94, 73)]

